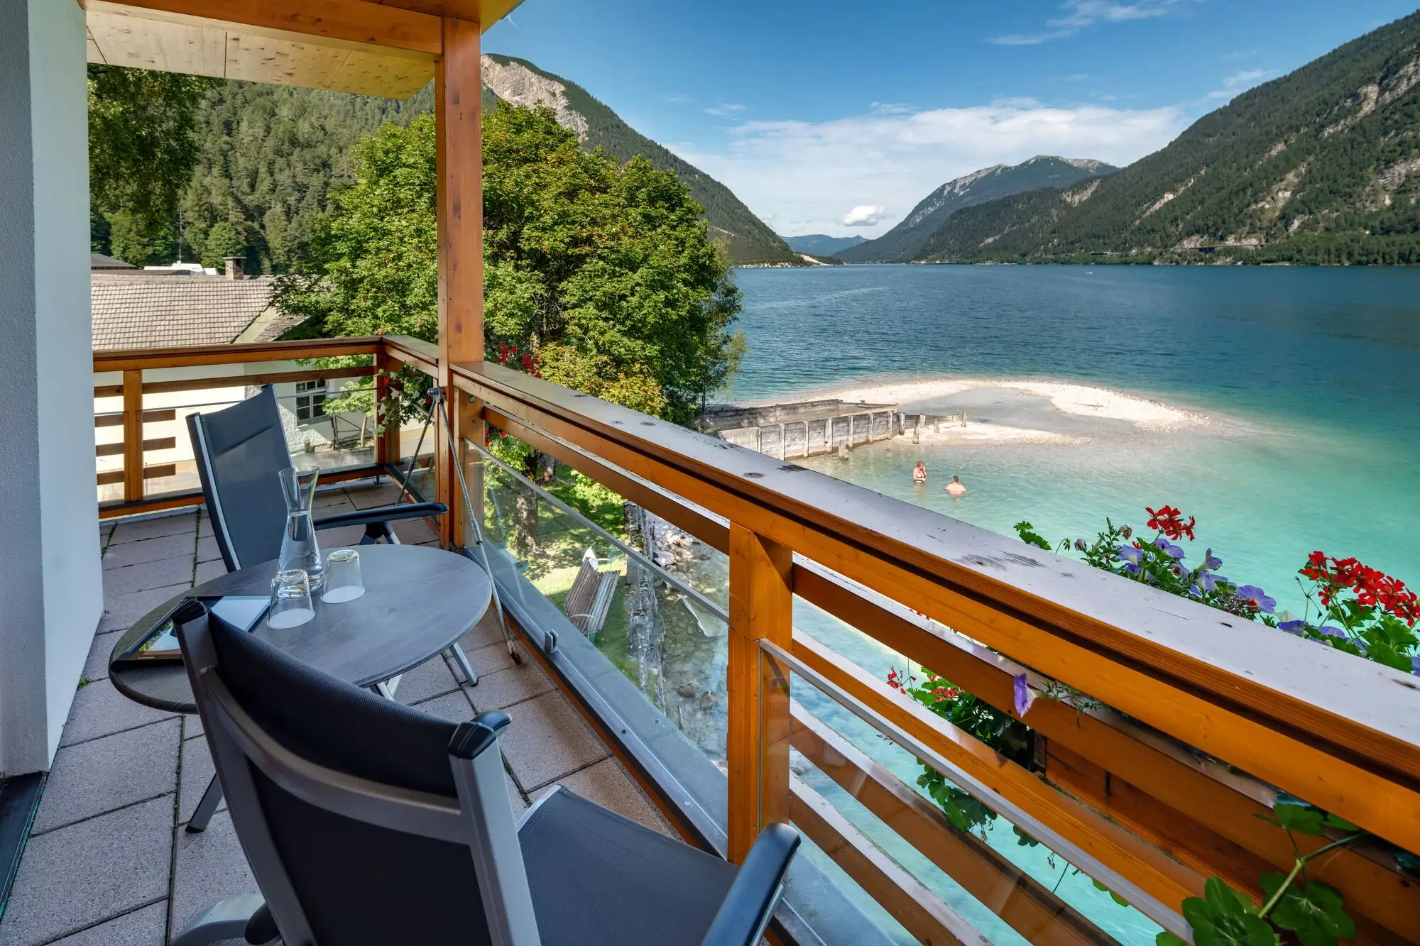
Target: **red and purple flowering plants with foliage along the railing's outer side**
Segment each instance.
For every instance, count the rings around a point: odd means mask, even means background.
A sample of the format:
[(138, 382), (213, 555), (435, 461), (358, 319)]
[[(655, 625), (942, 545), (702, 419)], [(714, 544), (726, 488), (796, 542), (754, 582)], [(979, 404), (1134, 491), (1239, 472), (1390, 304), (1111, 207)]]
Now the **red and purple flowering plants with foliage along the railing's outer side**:
[[(1238, 584), (1218, 574), (1223, 560), (1207, 548), (1201, 561), (1190, 564), (1186, 550), (1177, 544), (1194, 541), (1197, 520), (1184, 518), (1173, 506), (1146, 507), (1152, 538), (1139, 537), (1129, 526), (1115, 526), (1105, 520), (1105, 530), (1093, 541), (1076, 538), (1058, 544), (1058, 551), (1076, 551), (1086, 564), (1110, 574), (1152, 585), (1190, 598), (1221, 611), (1261, 621), (1288, 634), (1345, 651), (1367, 660), (1420, 675), (1420, 598), (1399, 578), (1370, 568), (1356, 558), (1331, 558), (1312, 553), (1298, 572), (1309, 581), (1302, 584), (1306, 609), (1299, 619), (1279, 621), (1277, 599), (1262, 588)], [(1051, 543), (1041, 537), (1028, 521), (1015, 524), (1022, 541), (1051, 551)], [(1315, 614), (1314, 614), (1315, 612)], [(896, 670), (889, 685), (914, 697), (934, 713), (971, 733), (985, 744), (1022, 766), (1032, 767), (1034, 732), (1024, 719), (1037, 696), (1088, 709), (1099, 703), (1072, 687), (1048, 680), (1038, 692), (1025, 673), (1014, 680), (1015, 716), (983, 703), (971, 693), (956, 687), (927, 672), (926, 683)], [(941, 805), (957, 827), (984, 827), (995, 814), (974, 798), (947, 783), (940, 773), (923, 764), (917, 784)], [(1326, 832), (1342, 837), (1302, 855), (1299, 851), (1287, 875), (1265, 874), (1260, 884), (1267, 895), (1261, 906), (1218, 878), (1207, 884), (1204, 898), (1184, 901), (1183, 913), (1193, 928), (1194, 940), (1204, 943), (1237, 943), (1274, 946), (1278, 930), (1295, 936), (1306, 946), (1335, 946), (1340, 939), (1355, 936), (1355, 923), (1345, 910), (1340, 892), (1308, 876), (1308, 865), (1318, 857), (1339, 847), (1369, 837), (1356, 825), (1321, 811), (1301, 798), (1278, 793), (1278, 804), (1267, 818), (1289, 835)], [(1022, 832), (1022, 844), (1034, 844)], [(1294, 841), (1294, 849), (1296, 844)], [(1397, 864), (1420, 874), (1420, 858), (1406, 851), (1393, 851)], [(1098, 882), (1096, 882), (1098, 886)], [(1116, 901), (1119, 898), (1115, 898)], [(1170, 933), (1160, 933), (1160, 946), (1181, 946)]]

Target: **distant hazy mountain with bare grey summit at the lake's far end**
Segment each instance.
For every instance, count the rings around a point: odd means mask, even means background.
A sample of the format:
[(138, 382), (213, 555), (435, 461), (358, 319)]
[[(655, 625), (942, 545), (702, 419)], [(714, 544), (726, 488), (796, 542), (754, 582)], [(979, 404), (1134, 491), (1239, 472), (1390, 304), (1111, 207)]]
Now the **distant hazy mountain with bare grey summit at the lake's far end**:
[(906, 263), (917, 256), (922, 244), (963, 207), (997, 200), (1022, 190), (1068, 187), (1085, 178), (1118, 170), (1091, 158), (1037, 155), (1018, 165), (991, 165), (949, 180), (912, 209), (902, 223), (876, 240), (835, 253), (845, 263)]

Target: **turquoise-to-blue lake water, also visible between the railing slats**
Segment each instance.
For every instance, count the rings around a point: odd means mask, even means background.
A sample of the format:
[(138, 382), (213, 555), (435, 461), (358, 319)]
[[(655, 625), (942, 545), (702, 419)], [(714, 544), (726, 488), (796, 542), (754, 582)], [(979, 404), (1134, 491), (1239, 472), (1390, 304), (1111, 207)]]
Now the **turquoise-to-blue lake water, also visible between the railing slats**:
[[(848, 462), (799, 460), (814, 469), (1003, 534), (1028, 518), (1055, 540), (1092, 537), (1106, 516), (1143, 526), (1145, 506), (1170, 503), (1198, 518), (1190, 560), (1211, 545), (1223, 574), (1267, 588), (1279, 608), (1301, 608), (1295, 572), (1314, 548), (1420, 582), (1420, 270), (875, 266), (740, 270), (737, 280), (750, 354), (726, 399), (899, 379), (1045, 379), (1208, 418), (1145, 432), (985, 388), (910, 406), (1086, 442), (899, 439)], [(912, 484), (917, 459), (927, 489)], [(960, 500), (941, 491), (950, 474), (968, 486)], [(802, 602), (795, 624), (873, 673), (902, 666)], [(914, 783), (906, 751), (802, 682), (794, 696)], [(1025, 942), (826, 777), (804, 777), (993, 942)], [(988, 841), (1120, 942), (1153, 942), (1157, 926), (1044, 848), (1018, 847), (1001, 822)]]

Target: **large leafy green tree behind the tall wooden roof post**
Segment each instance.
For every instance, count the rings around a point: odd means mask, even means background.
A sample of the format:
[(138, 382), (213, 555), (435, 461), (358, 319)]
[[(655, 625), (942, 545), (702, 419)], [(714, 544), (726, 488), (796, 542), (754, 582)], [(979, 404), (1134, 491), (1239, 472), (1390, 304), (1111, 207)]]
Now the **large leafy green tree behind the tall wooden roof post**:
[[(324, 335), (433, 339), (433, 116), (381, 128), (355, 163), (307, 271), (280, 280), (277, 301)], [(531, 354), (550, 381), (689, 420), (743, 349), (740, 293), (689, 189), (642, 158), (581, 151), (547, 108), (488, 112), (483, 165), (488, 351)]]

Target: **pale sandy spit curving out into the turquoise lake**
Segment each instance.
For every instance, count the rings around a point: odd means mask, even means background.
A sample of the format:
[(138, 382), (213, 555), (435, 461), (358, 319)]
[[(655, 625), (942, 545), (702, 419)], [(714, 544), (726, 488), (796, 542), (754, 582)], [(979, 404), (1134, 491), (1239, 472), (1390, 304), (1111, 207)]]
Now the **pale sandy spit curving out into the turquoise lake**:
[[(1113, 391), (1110, 388), (1095, 388), (1091, 385), (1056, 382), (1056, 381), (1020, 381), (1011, 378), (936, 378), (922, 381), (892, 381), (870, 385), (856, 385), (845, 388), (819, 389), (801, 392), (782, 401), (814, 401), (818, 398), (839, 398), (842, 401), (865, 401), (869, 403), (899, 403), (903, 409), (914, 405), (924, 405), (941, 401), (966, 391), (1008, 389), (1024, 395), (1048, 398), (1061, 413), (1082, 418), (1099, 418), (1106, 420), (1123, 420), (1140, 430), (1176, 430), (1180, 428), (1201, 426), (1208, 423), (1208, 418), (1201, 413), (1172, 408), (1159, 401), (1140, 398), (1139, 395)], [(968, 415), (970, 418), (970, 415)], [(1015, 428), (997, 428), (993, 425), (974, 425), (981, 428), (973, 432), (973, 425), (957, 433), (934, 435), (936, 437), (950, 436), (951, 440), (1014, 440), (1045, 442), (1059, 437), (1065, 442), (1074, 440), (1064, 435), (1048, 430), (1021, 430)], [(970, 436), (968, 436), (970, 435)], [(1044, 440), (1042, 440), (1044, 439)], [(941, 440), (941, 442), (951, 442)]]

